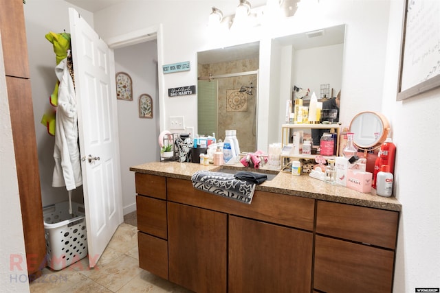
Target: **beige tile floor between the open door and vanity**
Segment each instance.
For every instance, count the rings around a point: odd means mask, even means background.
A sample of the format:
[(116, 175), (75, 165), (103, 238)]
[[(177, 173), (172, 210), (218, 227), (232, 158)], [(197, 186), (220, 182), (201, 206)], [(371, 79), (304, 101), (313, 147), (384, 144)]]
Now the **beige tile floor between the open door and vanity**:
[[(126, 222), (133, 222), (133, 217)], [(120, 224), (95, 268), (89, 269), (87, 257), (63, 270), (44, 268), (43, 276), (30, 284), (30, 292), (190, 292), (139, 268), (137, 227), (126, 222)]]

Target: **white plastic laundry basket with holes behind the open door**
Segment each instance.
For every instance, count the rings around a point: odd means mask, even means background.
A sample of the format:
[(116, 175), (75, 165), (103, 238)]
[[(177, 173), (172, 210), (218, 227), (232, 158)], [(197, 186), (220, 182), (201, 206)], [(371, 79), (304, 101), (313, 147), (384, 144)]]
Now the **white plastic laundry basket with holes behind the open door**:
[(47, 266), (61, 270), (87, 256), (87, 231), (83, 204), (59, 202), (43, 208)]

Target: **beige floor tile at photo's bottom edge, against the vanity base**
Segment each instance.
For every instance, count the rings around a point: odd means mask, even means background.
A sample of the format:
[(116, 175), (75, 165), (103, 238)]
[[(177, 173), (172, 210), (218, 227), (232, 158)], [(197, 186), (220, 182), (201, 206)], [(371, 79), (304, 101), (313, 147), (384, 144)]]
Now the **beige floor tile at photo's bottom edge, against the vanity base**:
[(168, 293), (168, 292), (180, 292), (180, 293), (190, 293), (190, 290), (180, 287), (170, 281), (162, 279), (160, 277), (142, 270), (140, 274), (131, 279), (129, 283), (126, 283), (124, 287), (118, 290), (118, 293)]

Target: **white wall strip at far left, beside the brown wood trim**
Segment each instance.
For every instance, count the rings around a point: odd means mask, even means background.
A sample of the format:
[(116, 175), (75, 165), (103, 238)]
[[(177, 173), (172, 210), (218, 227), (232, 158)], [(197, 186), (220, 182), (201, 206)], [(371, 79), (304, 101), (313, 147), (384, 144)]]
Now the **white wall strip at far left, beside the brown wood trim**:
[[(3, 67), (1, 36), (0, 125), (0, 292), (29, 292), (19, 183), (15, 165), (5, 68)], [(19, 259), (23, 261), (19, 261)]]

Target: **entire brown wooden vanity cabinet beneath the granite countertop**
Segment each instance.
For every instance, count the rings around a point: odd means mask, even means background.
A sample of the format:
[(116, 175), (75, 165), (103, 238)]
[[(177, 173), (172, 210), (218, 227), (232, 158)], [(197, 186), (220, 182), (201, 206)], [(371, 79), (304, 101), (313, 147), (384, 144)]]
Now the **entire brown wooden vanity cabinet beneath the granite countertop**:
[(399, 213), (135, 174), (140, 267), (195, 292), (392, 292)]

